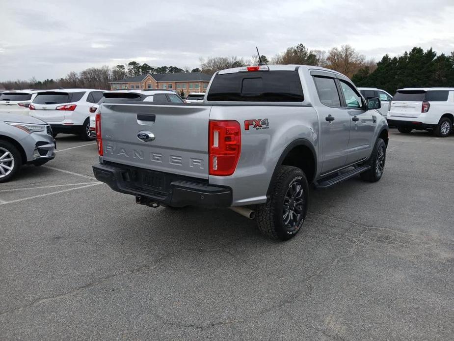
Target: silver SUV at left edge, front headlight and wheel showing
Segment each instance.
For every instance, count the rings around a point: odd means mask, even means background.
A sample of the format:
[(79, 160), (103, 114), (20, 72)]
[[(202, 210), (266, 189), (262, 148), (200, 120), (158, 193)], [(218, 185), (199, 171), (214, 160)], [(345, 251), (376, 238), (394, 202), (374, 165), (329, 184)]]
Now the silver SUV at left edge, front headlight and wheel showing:
[(0, 114), (0, 182), (9, 181), (22, 165), (44, 165), (55, 157), (52, 128), (30, 116)]

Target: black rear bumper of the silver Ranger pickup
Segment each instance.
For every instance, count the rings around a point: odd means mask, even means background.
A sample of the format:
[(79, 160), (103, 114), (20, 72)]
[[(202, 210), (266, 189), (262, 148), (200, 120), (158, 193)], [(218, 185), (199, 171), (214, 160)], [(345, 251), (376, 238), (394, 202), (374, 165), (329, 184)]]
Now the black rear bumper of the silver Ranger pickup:
[(165, 183), (160, 189), (146, 186), (142, 172), (148, 170), (125, 165), (94, 165), (93, 173), (98, 181), (120, 193), (136, 196), (136, 202), (148, 204), (160, 202), (169, 206), (187, 205), (206, 207), (229, 207), (232, 205), (232, 189), (213, 186), (187, 176), (164, 172), (157, 173)]

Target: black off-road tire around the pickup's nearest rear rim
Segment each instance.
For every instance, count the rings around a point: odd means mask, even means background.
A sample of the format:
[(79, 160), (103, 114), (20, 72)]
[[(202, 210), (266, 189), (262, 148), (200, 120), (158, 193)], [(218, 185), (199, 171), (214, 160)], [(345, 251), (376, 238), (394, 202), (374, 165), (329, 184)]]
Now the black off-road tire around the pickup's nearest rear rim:
[[(275, 177), (271, 180), (271, 194), (266, 203), (256, 207), (256, 221), (261, 233), (271, 239), (288, 240), (296, 235), (306, 219), (309, 199), (309, 184), (304, 172), (292, 166), (281, 166)], [(304, 204), (301, 205), (301, 212), (297, 224), (289, 228), (284, 223), (284, 199), (290, 191), (291, 186), (296, 183), (302, 188), (301, 198)], [(293, 202), (293, 201), (292, 201)]]

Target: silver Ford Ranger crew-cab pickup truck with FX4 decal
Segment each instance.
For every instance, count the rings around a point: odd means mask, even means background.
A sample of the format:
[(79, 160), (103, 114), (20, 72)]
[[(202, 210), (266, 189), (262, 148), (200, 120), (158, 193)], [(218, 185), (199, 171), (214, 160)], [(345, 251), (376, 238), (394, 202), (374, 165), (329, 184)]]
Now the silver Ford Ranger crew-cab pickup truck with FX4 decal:
[(287, 240), (305, 220), (309, 184), (381, 178), (388, 125), (380, 106), (320, 67), (218, 71), (202, 104), (106, 100), (93, 171), (139, 204), (230, 207)]

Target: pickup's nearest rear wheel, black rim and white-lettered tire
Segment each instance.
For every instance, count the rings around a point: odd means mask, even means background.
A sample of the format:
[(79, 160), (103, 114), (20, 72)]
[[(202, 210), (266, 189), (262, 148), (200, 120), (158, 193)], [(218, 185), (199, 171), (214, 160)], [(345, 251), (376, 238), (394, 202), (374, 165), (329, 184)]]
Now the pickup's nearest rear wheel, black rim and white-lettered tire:
[(270, 198), (256, 207), (260, 232), (278, 240), (294, 237), (306, 219), (308, 195), (304, 172), (297, 167), (281, 166), (272, 179)]

